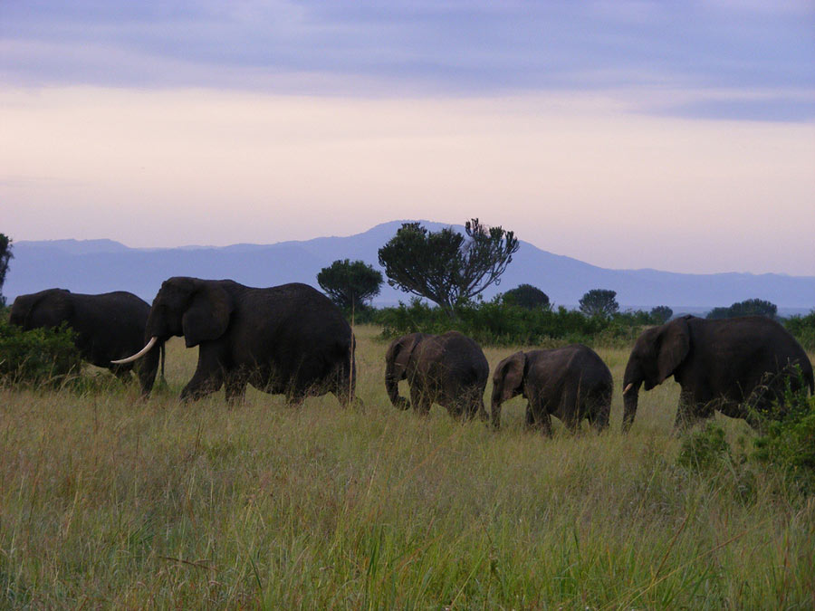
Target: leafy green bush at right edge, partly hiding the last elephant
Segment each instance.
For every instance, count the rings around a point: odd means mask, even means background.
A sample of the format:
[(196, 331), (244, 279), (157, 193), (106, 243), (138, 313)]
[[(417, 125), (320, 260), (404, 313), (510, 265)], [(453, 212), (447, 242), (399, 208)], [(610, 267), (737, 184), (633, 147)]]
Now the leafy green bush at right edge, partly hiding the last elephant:
[(815, 396), (791, 392), (783, 407), (761, 418), (764, 433), (754, 440), (753, 459), (777, 468), (802, 492), (815, 492)]

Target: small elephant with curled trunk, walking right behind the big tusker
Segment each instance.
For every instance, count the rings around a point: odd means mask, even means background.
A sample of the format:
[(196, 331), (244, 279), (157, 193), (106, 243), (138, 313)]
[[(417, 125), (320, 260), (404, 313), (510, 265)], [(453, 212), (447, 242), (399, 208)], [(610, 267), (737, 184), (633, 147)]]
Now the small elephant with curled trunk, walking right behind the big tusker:
[[(394, 339), (385, 355), (385, 388), (390, 402), (427, 414), (437, 403), (453, 417), (487, 419), (484, 389), (490, 366), (481, 347), (458, 331), (442, 335), (411, 333)], [(399, 396), (407, 379), (410, 401)]]

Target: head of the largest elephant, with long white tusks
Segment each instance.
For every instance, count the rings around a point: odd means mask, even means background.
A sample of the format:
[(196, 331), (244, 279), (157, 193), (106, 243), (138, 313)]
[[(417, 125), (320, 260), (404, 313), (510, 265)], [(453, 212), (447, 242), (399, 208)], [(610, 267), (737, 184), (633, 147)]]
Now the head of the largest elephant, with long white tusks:
[(183, 336), (187, 348), (202, 341), (218, 339), (229, 326), (234, 310), (232, 297), (219, 282), (175, 277), (162, 282), (150, 308), (145, 327), (147, 346), (132, 357), (115, 363), (128, 363), (147, 354), (157, 341)]

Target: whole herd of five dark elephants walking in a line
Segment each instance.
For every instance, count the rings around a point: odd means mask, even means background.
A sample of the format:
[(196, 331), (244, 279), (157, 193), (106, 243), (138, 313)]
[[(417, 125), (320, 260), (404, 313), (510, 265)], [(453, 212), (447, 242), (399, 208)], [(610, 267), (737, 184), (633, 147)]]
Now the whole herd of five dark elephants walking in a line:
[[(176, 336), (187, 348), (198, 347), (195, 374), (181, 391), (184, 400), (225, 387), (228, 401), (240, 401), (251, 384), (283, 394), (292, 404), (328, 392), (342, 406), (359, 402), (350, 325), (306, 284), (257, 289), (230, 280), (174, 277), (162, 283), (152, 306), (125, 291), (83, 295), (50, 289), (19, 296), (10, 322), (26, 330), (67, 323), (82, 358), (122, 379), (134, 369), (145, 396), (165, 342)], [(419, 413), (436, 403), (455, 417), (488, 420), (489, 373), (478, 344), (457, 331), (394, 339), (385, 357), (391, 403)], [(774, 320), (683, 316), (647, 329), (632, 349), (623, 377), (624, 431), (634, 421), (639, 388), (650, 390), (671, 376), (681, 387), (679, 427), (714, 411), (755, 425), (753, 414), (782, 403), (786, 388), (809, 387), (815, 394), (809, 358)], [(409, 401), (399, 396), (403, 379)], [(529, 427), (551, 434), (554, 415), (572, 431), (584, 418), (601, 431), (609, 425), (612, 390), (609, 368), (586, 346), (516, 352), (494, 368), (492, 423), (500, 426), (504, 401), (522, 395)]]

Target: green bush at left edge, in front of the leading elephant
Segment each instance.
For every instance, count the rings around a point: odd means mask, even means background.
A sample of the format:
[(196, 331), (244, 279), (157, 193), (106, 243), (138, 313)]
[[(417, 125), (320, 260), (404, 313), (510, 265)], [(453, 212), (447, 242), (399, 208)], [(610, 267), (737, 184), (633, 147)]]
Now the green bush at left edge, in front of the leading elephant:
[(81, 368), (73, 331), (64, 324), (59, 329), (24, 331), (0, 321), (0, 380), (4, 383), (59, 383)]

